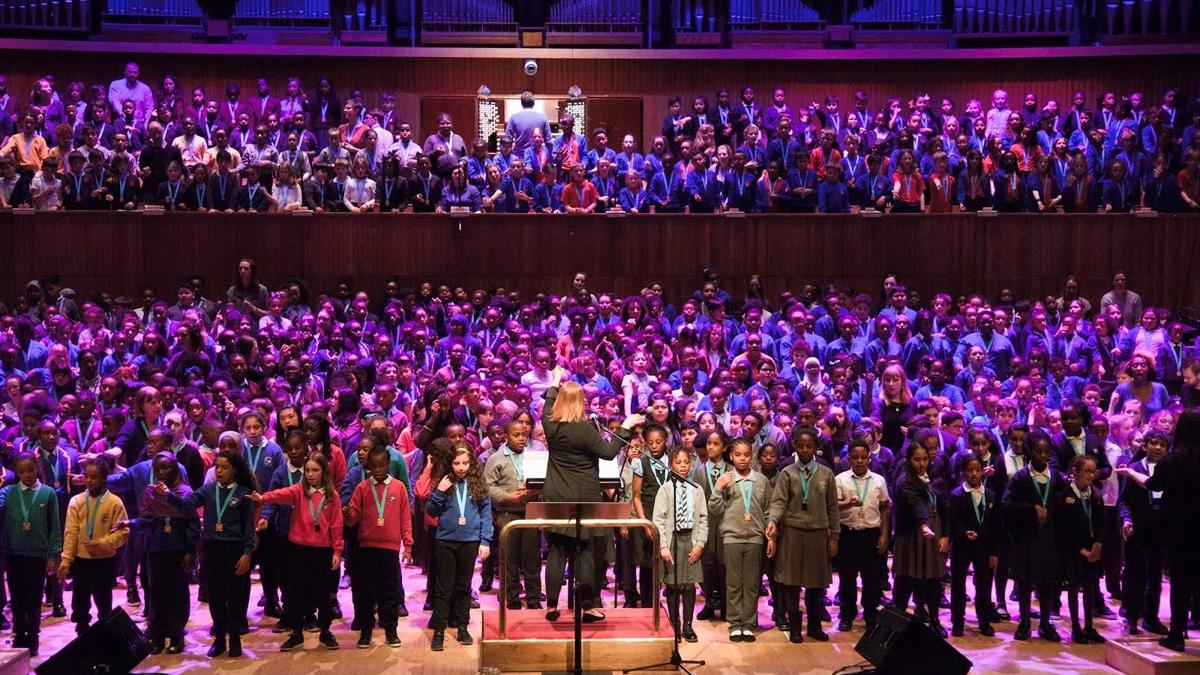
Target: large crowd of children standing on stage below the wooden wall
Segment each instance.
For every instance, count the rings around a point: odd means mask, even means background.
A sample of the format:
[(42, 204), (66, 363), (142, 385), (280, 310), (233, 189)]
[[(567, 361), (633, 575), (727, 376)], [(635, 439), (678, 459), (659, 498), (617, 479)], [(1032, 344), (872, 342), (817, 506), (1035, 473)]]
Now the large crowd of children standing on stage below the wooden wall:
[[(539, 410), (568, 380), (601, 424), (647, 418), (608, 498), (653, 520), (659, 550), (636, 527), (596, 534), (594, 586), (647, 607), (661, 565), (688, 641), (718, 619), (754, 641), (762, 596), (793, 643), (828, 640), (829, 607), (847, 632), (910, 601), (961, 637), (968, 575), (983, 635), (1015, 602), (1015, 639), (1037, 620), (1062, 640), (1063, 590), (1075, 643), (1104, 641), (1110, 601), (1129, 633), (1166, 634), (1164, 575), (1194, 573), (1166, 569), (1163, 494), (1128, 476), (1153, 480), (1172, 452), (1198, 401), (1196, 345), (1123, 273), (1094, 305), (1069, 279), (1057, 298), (937, 293), (928, 309), (895, 277), (878, 299), (815, 286), (734, 298), (708, 274), (678, 310), (653, 288), (593, 294), (583, 274), (536, 299), (242, 281), (220, 303), (188, 280), (175, 304), (151, 291), (133, 310), (77, 304), (48, 279), (0, 318), (14, 645), (36, 653), (43, 599), (66, 616), (68, 579), (83, 632), (120, 577), (125, 604), (145, 593), (155, 653), (197, 628), (197, 583), (209, 655), (236, 657), (257, 569), (284, 651), (310, 631), (338, 647), (347, 584), (356, 646), (380, 627), (398, 647), (403, 563), (428, 577), (432, 647), (448, 628), (469, 645), (472, 579), (491, 590), (500, 546), (502, 602), (542, 609), (541, 534), (498, 533), (540, 497)], [(1172, 625), (1164, 644), (1182, 639)]]

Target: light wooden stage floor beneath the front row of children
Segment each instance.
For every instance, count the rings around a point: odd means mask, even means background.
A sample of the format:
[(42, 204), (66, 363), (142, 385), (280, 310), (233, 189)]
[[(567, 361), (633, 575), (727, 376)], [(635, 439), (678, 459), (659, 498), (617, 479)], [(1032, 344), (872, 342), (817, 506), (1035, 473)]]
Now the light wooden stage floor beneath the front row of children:
[[(473, 586), (478, 586), (476, 579)], [(970, 584), (967, 585), (970, 589)], [(836, 580), (834, 581), (836, 587)], [(346, 613), (344, 621), (337, 621), (334, 633), (341, 643), (341, 650), (326, 651), (317, 645), (317, 635), (306, 634), (304, 651), (282, 653), (278, 645), (286, 635), (274, 634), (270, 627), (274, 619), (264, 617), (262, 608), (256, 607), (259, 597), (259, 586), (256, 584), (251, 592), (250, 625), (251, 633), (245, 635), (242, 645), (245, 657), (230, 659), (221, 657), (210, 661), (204, 656), (209, 646), (208, 605), (194, 602), (196, 587), (192, 587), (192, 619), (188, 622), (191, 633), (186, 638), (186, 651), (178, 656), (160, 655), (144, 661), (138, 668), (138, 673), (198, 673), (200, 670), (220, 670), (238, 673), (239, 675), (266, 675), (286, 674), (298, 675), (300, 673), (354, 673), (355, 675), (376, 675), (383, 673), (475, 673), (479, 668), (479, 638), (480, 638), (480, 610), (472, 611), (470, 632), (475, 638), (475, 644), (469, 647), (454, 641), (452, 633), (448, 632), (445, 651), (430, 651), (431, 631), (425, 628), (428, 621), (428, 613), (421, 611), (425, 602), (425, 578), (416, 568), (404, 569), (404, 589), (407, 591), (407, 603), (412, 614), (407, 619), (401, 619), (400, 637), (403, 645), (392, 650), (383, 644), (383, 634), (376, 631), (374, 646), (370, 650), (355, 649), (358, 633), (352, 632), (349, 620), (353, 615), (349, 590), (341, 591), (340, 598), (342, 610)], [(114, 591), (114, 601), (125, 601), (124, 587)], [(1066, 599), (1066, 595), (1063, 596)], [(612, 598), (605, 595), (605, 602), (612, 604)], [(67, 598), (70, 608), (70, 597)], [(480, 604), (484, 609), (497, 609), (496, 592), (480, 595)], [(1009, 610), (1015, 610), (1016, 603), (1009, 603)], [(122, 605), (124, 607), (124, 605)], [(1117, 605), (1118, 607), (1118, 605)], [(1116, 611), (1117, 607), (1114, 607)], [(1166, 597), (1163, 598), (1163, 611), (1166, 611)], [(126, 607), (131, 616), (140, 617), (138, 608)], [(836, 619), (836, 608), (830, 608)], [(49, 617), (49, 609), (46, 610)], [(1164, 621), (1166, 616), (1164, 615)], [(769, 626), (770, 607), (766, 599), (760, 604), (758, 623)], [(942, 610), (942, 620), (949, 627), (949, 610)], [(560, 620), (565, 625), (564, 619)], [(1060, 632), (1069, 635), (1066, 610), (1060, 621)], [(664, 616), (664, 628), (667, 622)], [(974, 633), (974, 615), (968, 604), (967, 609), (967, 635), (965, 638), (950, 638), (950, 644), (962, 651), (967, 658), (974, 662), (972, 673), (1001, 673), (1004, 675), (1016, 674), (1110, 674), (1118, 673), (1104, 664), (1103, 645), (1062, 645), (1050, 644), (1034, 639), (1027, 643), (1016, 643), (1012, 639), (1015, 623), (997, 623), (997, 637), (984, 638)], [(758, 640), (754, 644), (734, 644), (728, 640), (726, 625), (718, 621), (695, 622), (696, 632), (700, 634), (697, 644), (684, 644), (680, 649), (684, 658), (702, 658), (708, 664), (697, 670), (697, 675), (718, 675), (728, 673), (814, 673), (828, 674), (840, 668), (862, 662), (862, 657), (854, 652), (854, 644), (862, 637), (862, 621), (856, 622), (854, 629), (850, 633), (839, 633), (834, 626), (826, 626), (830, 635), (828, 643), (805, 641), (803, 645), (792, 645), (784, 633), (774, 629), (764, 629), (758, 633)], [(1108, 638), (1116, 638), (1122, 634), (1123, 623), (1120, 620), (1097, 621), (1097, 628)], [(46, 619), (42, 623), (42, 656), (34, 659), (34, 665), (74, 637), (73, 626), (66, 619)], [(1195, 635), (1193, 635), (1195, 638)], [(4, 637), (7, 646), (11, 635)], [(1200, 653), (1196, 643), (1189, 643), (1189, 652)], [(546, 664), (547, 669), (560, 669), (565, 664)]]

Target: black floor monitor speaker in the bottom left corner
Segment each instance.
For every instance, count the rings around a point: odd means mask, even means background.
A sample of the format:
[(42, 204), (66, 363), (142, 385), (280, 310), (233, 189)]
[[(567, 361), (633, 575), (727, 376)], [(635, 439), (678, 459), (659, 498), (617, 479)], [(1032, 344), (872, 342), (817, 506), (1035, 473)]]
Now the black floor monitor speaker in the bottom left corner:
[(38, 675), (132, 673), (150, 656), (150, 644), (125, 610), (116, 608), (34, 671)]

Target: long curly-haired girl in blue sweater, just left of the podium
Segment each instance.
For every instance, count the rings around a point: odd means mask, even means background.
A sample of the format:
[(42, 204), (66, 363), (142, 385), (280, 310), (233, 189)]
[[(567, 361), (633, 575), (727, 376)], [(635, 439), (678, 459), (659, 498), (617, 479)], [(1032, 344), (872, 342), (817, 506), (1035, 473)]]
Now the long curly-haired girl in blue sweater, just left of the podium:
[(492, 500), (487, 496), (484, 471), (475, 453), (458, 446), (451, 455), (450, 472), (438, 483), (425, 510), (438, 519), (433, 545), (434, 584), (433, 651), (442, 651), (448, 625), (456, 626), (461, 645), (474, 644), (467, 623), (470, 620), (470, 578), (475, 557), (487, 560), (492, 546)]

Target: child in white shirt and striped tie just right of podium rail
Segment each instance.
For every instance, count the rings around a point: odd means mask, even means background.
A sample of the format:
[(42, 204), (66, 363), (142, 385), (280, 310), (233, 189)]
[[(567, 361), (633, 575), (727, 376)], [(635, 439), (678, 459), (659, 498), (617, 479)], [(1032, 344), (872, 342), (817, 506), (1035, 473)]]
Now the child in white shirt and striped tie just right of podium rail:
[[(700, 638), (691, 627), (691, 617), (696, 610), (696, 584), (703, 581), (700, 558), (704, 552), (704, 542), (708, 540), (708, 507), (704, 491), (686, 482), (691, 473), (691, 452), (688, 448), (673, 448), (670, 456), (671, 471), (684, 480), (668, 479), (654, 495), (654, 526), (659, 528), (659, 557), (662, 558), (662, 581), (667, 587), (667, 615), (679, 635), (695, 643)], [(676, 555), (682, 556), (684, 551), (688, 551), (686, 561), (676, 561)]]

